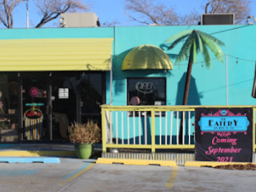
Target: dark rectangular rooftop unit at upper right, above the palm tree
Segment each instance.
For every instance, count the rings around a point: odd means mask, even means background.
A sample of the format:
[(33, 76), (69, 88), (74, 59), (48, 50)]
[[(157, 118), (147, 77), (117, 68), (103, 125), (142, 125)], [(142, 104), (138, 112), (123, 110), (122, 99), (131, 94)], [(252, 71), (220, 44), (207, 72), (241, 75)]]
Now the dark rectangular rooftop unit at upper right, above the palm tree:
[(234, 25), (234, 14), (201, 14), (201, 25)]

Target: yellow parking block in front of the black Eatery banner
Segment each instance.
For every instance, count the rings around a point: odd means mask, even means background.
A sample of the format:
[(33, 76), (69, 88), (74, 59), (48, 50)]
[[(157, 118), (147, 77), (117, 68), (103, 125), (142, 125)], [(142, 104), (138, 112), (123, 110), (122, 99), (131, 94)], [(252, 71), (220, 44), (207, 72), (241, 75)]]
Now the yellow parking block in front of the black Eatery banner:
[[(246, 165), (250, 162), (197, 162), (197, 161), (191, 161), (191, 162), (185, 162), (184, 166), (225, 166), (225, 165), (234, 165), (234, 164), (240, 164), (240, 165)], [(256, 163), (253, 163), (256, 165)]]

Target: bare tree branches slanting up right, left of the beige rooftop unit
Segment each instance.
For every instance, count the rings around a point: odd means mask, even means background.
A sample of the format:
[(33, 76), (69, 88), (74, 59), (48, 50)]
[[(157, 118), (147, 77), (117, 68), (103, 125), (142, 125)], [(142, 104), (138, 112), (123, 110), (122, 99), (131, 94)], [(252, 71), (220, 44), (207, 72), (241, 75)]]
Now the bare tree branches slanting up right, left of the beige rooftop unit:
[(35, 26), (36, 28), (42, 27), (47, 22), (58, 18), (60, 14), (90, 9), (89, 4), (85, 5), (80, 0), (38, 0), (37, 6), (42, 18)]

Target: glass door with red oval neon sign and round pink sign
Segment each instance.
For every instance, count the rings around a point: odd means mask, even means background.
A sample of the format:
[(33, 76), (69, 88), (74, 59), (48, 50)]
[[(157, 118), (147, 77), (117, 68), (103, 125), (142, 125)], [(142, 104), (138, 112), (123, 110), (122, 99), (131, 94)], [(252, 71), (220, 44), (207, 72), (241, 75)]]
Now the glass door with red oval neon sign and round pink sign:
[(26, 73), (22, 75), (23, 99), (23, 140), (47, 140), (46, 98), (47, 76), (44, 73)]

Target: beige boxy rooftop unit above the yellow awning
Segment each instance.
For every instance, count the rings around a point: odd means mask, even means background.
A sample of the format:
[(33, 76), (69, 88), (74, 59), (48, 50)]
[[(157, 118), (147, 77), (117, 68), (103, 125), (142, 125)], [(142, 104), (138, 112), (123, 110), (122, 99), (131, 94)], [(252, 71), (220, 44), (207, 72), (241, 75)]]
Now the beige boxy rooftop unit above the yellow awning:
[(60, 27), (97, 27), (100, 26), (98, 16), (94, 13), (61, 14)]

